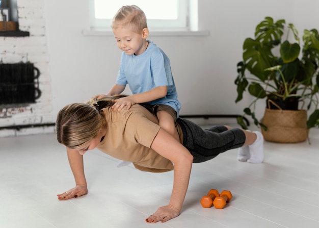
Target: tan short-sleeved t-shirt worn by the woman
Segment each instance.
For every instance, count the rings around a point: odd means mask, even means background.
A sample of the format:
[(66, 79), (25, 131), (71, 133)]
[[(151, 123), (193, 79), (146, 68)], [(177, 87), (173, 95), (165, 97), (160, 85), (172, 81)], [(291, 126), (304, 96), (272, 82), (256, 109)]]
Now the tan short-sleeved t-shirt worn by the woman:
[(107, 134), (97, 146), (114, 158), (130, 161), (142, 171), (166, 172), (174, 169), (173, 163), (150, 148), (160, 126), (157, 118), (140, 105), (129, 110), (102, 109), (107, 121)]

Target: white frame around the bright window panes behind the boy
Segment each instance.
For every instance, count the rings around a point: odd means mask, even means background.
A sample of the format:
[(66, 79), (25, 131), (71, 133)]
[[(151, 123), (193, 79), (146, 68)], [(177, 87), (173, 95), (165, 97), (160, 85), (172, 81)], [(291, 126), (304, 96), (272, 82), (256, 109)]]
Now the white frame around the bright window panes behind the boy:
[[(158, 1), (161, 2), (161, 0)], [(190, 0), (178, 0), (177, 19), (147, 19), (148, 28), (152, 31), (190, 31), (190, 2)], [(89, 0), (89, 4), (90, 29), (93, 31), (111, 31), (112, 19), (95, 18), (94, 0)], [(132, 4), (134, 4), (134, 1), (132, 1)]]

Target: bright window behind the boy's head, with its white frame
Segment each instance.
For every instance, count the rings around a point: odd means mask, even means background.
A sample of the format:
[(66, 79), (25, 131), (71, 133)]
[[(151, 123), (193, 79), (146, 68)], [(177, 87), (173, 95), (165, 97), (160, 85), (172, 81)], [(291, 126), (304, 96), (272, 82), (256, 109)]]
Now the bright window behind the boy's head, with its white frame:
[[(192, 1), (192, 0), (191, 0)], [(150, 30), (189, 30), (190, 0), (90, 0), (93, 30), (111, 30), (113, 16), (125, 5), (137, 5), (147, 17)]]

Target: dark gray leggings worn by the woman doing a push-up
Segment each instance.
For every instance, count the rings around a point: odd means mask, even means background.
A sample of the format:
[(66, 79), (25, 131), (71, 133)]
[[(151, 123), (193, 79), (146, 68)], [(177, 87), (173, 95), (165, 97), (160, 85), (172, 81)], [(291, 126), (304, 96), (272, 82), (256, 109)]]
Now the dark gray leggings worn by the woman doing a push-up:
[(183, 133), (183, 145), (193, 155), (194, 163), (208, 161), (226, 150), (241, 147), (246, 140), (241, 129), (228, 130), (220, 125), (204, 130), (187, 119), (178, 118), (176, 122)]

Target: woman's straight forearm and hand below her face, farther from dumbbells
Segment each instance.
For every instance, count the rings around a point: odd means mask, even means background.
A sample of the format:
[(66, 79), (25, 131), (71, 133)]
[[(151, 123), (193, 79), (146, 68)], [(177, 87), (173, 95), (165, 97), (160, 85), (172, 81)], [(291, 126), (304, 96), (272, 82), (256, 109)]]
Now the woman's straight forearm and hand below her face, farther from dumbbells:
[(58, 195), (59, 200), (70, 199), (88, 193), (87, 182), (84, 174), (83, 156), (76, 150), (66, 148), (69, 164), (73, 172), (75, 187)]

